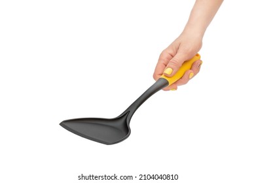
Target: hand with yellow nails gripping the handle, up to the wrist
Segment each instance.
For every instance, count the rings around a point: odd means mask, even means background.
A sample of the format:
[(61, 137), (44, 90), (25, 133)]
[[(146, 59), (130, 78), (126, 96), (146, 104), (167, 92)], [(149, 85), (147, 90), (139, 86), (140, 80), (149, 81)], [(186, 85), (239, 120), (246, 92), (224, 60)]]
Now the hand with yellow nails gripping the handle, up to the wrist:
[[(171, 77), (179, 70), (184, 61), (194, 57), (202, 47), (202, 37), (192, 33), (182, 33), (159, 56), (153, 78), (157, 80), (162, 74)], [(189, 71), (174, 84), (163, 90), (177, 90), (177, 86), (187, 84), (189, 80), (200, 71), (201, 60), (195, 61)]]

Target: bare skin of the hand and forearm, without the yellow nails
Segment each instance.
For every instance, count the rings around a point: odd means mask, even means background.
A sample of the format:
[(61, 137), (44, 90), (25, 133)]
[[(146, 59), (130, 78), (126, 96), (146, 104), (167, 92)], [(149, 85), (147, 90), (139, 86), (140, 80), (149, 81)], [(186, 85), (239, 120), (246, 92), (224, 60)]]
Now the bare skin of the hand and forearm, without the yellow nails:
[[(164, 73), (165, 76), (175, 75), (184, 61), (191, 59), (199, 52), (202, 48), (204, 33), (221, 3), (223, 0), (196, 0), (181, 35), (160, 54), (153, 74), (155, 80), (158, 80), (167, 68), (171, 68), (172, 73), (170, 75)], [(193, 76), (199, 73), (201, 65), (201, 60), (195, 61), (191, 70), (186, 71), (182, 78), (163, 90), (177, 90), (177, 86), (187, 84)], [(189, 78), (191, 75), (192, 77)]]

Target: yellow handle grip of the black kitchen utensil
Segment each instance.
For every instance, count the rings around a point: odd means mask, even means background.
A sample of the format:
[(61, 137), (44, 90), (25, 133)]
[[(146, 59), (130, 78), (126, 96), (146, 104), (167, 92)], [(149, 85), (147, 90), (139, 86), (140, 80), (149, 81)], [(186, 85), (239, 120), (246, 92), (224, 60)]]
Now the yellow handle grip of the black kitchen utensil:
[(160, 78), (165, 78), (166, 80), (168, 80), (169, 86), (170, 86), (171, 84), (173, 84), (174, 82), (176, 82), (177, 80), (179, 80), (179, 79), (185, 74), (185, 72), (186, 72), (187, 70), (191, 69), (192, 64), (193, 64), (196, 60), (198, 60), (198, 59), (200, 59), (200, 58), (201, 58), (201, 57), (200, 57), (200, 54), (196, 54), (192, 59), (190, 59), (190, 60), (188, 60), (188, 61), (185, 61), (185, 62), (181, 65), (181, 67), (179, 68), (179, 71), (177, 71), (177, 73), (175, 73), (174, 76), (172, 76), (172, 77), (169, 78), (169, 77), (166, 77), (166, 76), (162, 75), (162, 76), (160, 76)]

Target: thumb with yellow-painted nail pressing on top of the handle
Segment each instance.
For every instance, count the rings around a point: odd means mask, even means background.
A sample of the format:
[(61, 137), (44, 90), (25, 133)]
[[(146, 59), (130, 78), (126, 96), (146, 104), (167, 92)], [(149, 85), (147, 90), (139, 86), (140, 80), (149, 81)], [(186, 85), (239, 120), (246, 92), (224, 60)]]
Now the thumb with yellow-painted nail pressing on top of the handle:
[(175, 73), (179, 70), (179, 67), (181, 67), (183, 62), (188, 59), (189, 58), (187, 54), (183, 54), (182, 52), (177, 52), (174, 58), (172, 58), (166, 65), (166, 69), (164, 70), (164, 75), (168, 77), (175, 75)]

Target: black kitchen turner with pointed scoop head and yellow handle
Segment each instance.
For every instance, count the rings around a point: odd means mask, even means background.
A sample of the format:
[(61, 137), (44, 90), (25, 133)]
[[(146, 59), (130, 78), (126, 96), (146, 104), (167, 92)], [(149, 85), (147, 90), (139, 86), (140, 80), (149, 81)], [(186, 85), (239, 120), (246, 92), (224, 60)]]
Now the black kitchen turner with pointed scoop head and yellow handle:
[(117, 118), (77, 118), (65, 120), (61, 122), (60, 125), (81, 137), (103, 144), (116, 144), (124, 141), (124, 139), (128, 138), (131, 133), (130, 120), (137, 108), (139, 108), (139, 106), (154, 93), (179, 80), (179, 78), (184, 75), (185, 71), (191, 69), (192, 63), (198, 59), (200, 59), (200, 55), (196, 54), (194, 58), (185, 61), (179, 71), (170, 78), (162, 75), (155, 84), (146, 90), (146, 92), (144, 92)]

